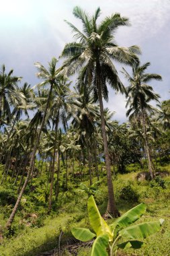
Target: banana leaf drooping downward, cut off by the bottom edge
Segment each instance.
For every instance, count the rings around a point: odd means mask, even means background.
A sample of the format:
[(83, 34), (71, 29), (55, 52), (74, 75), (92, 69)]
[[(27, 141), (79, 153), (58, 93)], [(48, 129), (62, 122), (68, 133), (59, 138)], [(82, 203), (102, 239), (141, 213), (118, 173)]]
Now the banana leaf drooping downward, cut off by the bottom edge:
[(108, 234), (102, 234), (101, 236), (98, 236), (93, 243), (93, 247), (91, 249), (91, 256), (108, 256), (108, 253), (106, 251), (108, 243)]

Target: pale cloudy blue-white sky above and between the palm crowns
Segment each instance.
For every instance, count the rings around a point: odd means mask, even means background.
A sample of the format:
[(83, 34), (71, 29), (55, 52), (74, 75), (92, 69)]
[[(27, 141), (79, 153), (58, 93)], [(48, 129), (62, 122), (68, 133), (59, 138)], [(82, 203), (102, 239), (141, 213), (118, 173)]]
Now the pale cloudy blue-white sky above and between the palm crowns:
[[(34, 63), (39, 61), (47, 67), (52, 57), (58, 59), (67, 42), (74, 41), (65, 20), (81, 29), (81, 22), (73, 15), (77, 5), (91, 15), (100, 7), (99, 22), (116, 12), (129, 18), (131, 26), (117, 30), (116, 42), (120, 46), (140, 46), (140, 62), (151, 62), (147, 72), (163, 77), (162, 82), (151, 85), (161, 100), (169, 99), (169, 0), (0, 0), (0, 65), (5, 64), (6, 71), (14, 69), (14, 75), (23, 77), (22, 84), (37, 84)], [(124, 86), (128, 86), (120, 73), (122, 65), (116, 64), (116, 68)], [(130, 71), (130, 67), (125, 68)], [(126, 121), (126, 98), (112, 89), (109, 95), (105, 106), (116, 111), (114, 119)]]

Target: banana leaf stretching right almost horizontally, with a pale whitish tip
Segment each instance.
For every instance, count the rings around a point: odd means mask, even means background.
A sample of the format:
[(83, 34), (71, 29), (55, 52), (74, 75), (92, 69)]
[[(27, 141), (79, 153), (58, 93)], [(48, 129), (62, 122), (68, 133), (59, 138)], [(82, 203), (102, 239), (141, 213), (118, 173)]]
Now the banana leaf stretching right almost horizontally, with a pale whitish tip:
[(151, 236), (151, 234), (155, 234), (157, 231), (159, 231), (161, 229), (163, 221), (163, 219), (160, 219), (159, 221), (156, 222), (145, 222), (134, 226), (130, 226), (128, 228), (120, 230), (119, 234), (123, 238), (128, 239), (146, 238), (148, 236)]

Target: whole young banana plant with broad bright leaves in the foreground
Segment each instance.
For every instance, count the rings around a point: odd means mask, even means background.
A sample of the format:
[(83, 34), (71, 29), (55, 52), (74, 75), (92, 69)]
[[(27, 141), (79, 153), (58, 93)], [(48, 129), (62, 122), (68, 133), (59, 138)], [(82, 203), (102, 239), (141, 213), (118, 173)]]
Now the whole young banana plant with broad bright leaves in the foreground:
[[(95, 238), (91, 256), (114, 256), (119, 248), (139, 249), (144, 243), (140, 240), (158, 232), (164, 222), (163, 219), (160, 219), (159, 221), (130, 225), (146, 211), (144, 203), (135, 206), (110, 225), (101, 217), (93, 195), (87, 201), (87, 209), (93, 232), (88, 228), (73, 228), (71, 232), (75, 238), (83, 242)], [(119, 243), (120, 238), (126, 238), (126, 241)]]

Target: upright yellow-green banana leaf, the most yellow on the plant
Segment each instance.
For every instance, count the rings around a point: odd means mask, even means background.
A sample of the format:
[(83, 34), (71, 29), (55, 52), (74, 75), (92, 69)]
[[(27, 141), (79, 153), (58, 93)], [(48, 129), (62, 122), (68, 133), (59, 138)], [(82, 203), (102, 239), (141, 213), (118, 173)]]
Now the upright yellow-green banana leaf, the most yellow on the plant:
[(87, 208), (89, 212), (91, 227), (93, 228), (97, 236), (100, 236), (101, 234), (108, 234), (108, 236), (110, 237), (110, 241), (112, 241), (112, 231), (110, 230), (110, 227), (105, 222), (105, 220), (103, 220), (103, 218), (101, 217), (93, 195), (91, 195), (91, 197), (89, 197), (87, 201)]

